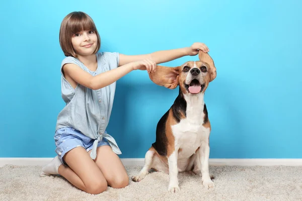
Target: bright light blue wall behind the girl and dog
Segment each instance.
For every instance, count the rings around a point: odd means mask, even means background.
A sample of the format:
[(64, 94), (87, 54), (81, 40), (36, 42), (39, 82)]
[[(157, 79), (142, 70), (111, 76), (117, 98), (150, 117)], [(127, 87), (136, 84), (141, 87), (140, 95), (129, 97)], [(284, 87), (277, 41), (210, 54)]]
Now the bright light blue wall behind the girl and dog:
[[(110, 3), (109, 3), (110, 2)], [(217, 67), (211, 158), (302, 158), (302, 1), (5, 1), (0, 7), (0, 157), (53, 157), (65, 15), (95, 21), (101, 51), (144, 54), (204, 42)], [(166, 63), (181, 65), (195, 57)], [(142, 158), (178, 94), (145, 71), (117, 82), (108, 133)]]

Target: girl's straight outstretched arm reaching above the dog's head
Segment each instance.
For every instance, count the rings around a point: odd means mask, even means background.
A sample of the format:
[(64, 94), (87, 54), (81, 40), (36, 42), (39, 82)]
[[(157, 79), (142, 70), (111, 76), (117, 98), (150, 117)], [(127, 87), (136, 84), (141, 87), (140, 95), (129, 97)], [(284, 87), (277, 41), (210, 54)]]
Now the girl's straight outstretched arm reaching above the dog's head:
[(208, 52), (208, 47), (203, 43), (194, 43), (190, 47), (185, 48), (179, 48), (179, 49), (173, 49), (173, 50), (161, 50), (157, 52), (153, 52), (150, 54), (141, 54), (141, 55), (124, 55), (119, 54), (119, 66), (125, 65), (132, 61), (137, 61), (141, 59), (152, 59), (157, 64), (159, 63), (165, 63), (168, 61), (172, 61), (174, 59), (178, 59), (183, 56), (194, 56), (197, 55), (199, 50), (202, 50), (203, 52)]

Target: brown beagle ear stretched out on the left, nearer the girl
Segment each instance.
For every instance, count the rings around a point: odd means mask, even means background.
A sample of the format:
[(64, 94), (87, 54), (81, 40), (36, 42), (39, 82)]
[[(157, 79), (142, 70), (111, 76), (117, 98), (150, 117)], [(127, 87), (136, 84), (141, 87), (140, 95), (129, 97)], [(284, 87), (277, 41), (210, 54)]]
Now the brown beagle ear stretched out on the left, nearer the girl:
[(149, 77), (160, 86), (174, 89), (179, 84), (179, 66), (166, 67), (158, 65), (155, 72), (149, 73)]

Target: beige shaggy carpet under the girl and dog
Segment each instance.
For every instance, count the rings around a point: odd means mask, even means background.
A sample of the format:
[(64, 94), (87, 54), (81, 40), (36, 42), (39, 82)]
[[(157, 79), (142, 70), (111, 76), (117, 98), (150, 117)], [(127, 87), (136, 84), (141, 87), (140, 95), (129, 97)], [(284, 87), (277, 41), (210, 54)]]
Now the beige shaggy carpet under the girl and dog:
[[(140, 167), (126, 167), (130, 176)], [(169, 175), (148, 174), (123, 189), (108, 188), (92, 195), (60, 176), (39, 177), (40, 166), (0, 168), (0, 200), (302, 200), (302, 167), (210, 166), (215, 188), (205, 189), (201, 177), (180, 173), (181, 191), (167, 192)]]

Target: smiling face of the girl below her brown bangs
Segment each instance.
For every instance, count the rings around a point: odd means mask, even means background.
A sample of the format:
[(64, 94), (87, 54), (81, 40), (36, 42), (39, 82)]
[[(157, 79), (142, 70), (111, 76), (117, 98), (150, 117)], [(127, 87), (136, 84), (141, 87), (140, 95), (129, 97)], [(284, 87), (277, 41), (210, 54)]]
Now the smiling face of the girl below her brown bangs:
[(98, 45), (98, 37), (94, 31), (81, 31), (73, 34), (71, 43), (75, 53), (89, 56), (94, 53)]

